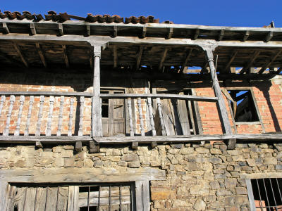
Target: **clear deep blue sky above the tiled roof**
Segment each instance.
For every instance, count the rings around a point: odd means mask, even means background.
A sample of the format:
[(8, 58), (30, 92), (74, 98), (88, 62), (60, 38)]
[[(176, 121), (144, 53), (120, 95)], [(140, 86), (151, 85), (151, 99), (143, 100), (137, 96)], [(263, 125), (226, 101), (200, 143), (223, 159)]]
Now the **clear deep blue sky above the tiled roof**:
[(160, 21), (192, 25), (220, 25), (262, 27), (274, 20), (282, 27), (282, 0), (141, 0), (141, 1), (87, 1), (1, 0), (0, 10), (30, 11), (45, 14), (47, 11), (67, 12), (85, 17), (87, 13), (130, 17), (154, 15)]

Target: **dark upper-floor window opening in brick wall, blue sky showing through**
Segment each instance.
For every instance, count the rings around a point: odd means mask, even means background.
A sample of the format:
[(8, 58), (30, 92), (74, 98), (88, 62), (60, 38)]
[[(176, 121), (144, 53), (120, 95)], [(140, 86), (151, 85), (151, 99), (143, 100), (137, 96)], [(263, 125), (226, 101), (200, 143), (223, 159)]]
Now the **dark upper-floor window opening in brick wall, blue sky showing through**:
[(257, 122), (259, 115), (250, 90), (229, 90), (235, 122)]

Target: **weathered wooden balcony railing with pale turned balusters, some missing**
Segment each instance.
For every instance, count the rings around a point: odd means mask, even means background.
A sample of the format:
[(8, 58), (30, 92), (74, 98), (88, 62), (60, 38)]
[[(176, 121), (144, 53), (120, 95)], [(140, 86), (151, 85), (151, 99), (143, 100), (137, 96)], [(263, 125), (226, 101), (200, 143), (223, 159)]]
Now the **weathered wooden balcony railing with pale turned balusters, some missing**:
[[(95, 138), (91, 93), (2, 91), (0, 96), (2, 139)], [(103, 135), (110, 137), (202, 134), (195, 101), (217, 101), (216, 97), (179, 94), (100, 94), (100, 97)]]

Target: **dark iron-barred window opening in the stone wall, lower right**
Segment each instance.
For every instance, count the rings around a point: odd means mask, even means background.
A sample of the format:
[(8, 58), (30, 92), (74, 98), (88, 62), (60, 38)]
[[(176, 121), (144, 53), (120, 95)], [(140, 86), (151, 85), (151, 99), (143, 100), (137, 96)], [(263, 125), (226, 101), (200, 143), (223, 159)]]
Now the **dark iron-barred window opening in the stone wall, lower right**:
[(256, 210), (282, 210), (282, 179), (251, 179)]

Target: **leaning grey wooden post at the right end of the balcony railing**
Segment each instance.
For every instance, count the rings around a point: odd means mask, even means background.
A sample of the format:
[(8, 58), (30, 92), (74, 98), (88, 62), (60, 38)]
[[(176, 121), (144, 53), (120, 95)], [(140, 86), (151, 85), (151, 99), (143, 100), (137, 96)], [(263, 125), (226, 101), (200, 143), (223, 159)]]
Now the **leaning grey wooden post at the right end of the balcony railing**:
[(219, 87), (219, 80), (217, 79), (216, 70), (214, 67), (214, 55), (212, 51), (216, 46), (202, 46), (204, 53), (206, 54), (207, 62), (209, 63), (209, 68), (211, 72), (214, 94), (219, 99), (217, 106), (219, 106), (219, 116), (221, 117), (222, 124), (223, 124), (223, 133), (231, 134), (231, 125), (228, 119), (226, 106), (223, 100), (223, 96), (221, 94), (221, 89)]

